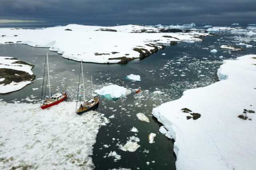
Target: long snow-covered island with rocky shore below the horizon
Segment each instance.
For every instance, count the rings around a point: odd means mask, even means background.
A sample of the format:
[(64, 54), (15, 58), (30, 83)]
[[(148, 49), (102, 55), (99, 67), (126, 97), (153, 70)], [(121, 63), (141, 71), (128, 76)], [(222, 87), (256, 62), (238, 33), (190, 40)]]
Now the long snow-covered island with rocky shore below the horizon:
[(42, 29), (0, 28), (2, 44), (49, 47), (62, 57), (92, 63), (127, 63), (148, 57), (174, 42), (202, 41), (210, 34), (139, 25), (83, 26), (70, 24)]

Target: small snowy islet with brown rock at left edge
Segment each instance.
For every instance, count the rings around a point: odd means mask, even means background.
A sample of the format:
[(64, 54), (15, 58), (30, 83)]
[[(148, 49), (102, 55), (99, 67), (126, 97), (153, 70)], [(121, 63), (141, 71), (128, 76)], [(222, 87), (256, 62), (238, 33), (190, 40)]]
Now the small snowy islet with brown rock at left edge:
[(13, 57), (0, 56), (0, 94), (17, 91), (32, 83), (34, 65)]

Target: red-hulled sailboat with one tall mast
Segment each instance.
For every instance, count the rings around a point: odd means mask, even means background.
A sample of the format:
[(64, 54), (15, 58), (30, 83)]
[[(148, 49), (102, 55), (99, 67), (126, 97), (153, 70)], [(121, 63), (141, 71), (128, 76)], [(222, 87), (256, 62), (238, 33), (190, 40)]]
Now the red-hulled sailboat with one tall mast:
[[(46, 52), (46, 59), (45, 59), (45, 63), (44, 63), (44, 73), (45, 73), (45, 64), (47, 63), (47, 78), (46, 78), (46, 84), (47, 84), (47, 80), (48, 80), (48, 85), (49, 85), (49, 99), (45, 99), (44, 103), (40, 106), (42, 109), (46, 109), (48, 107), (51, 107), (53, 105), (57, 105), (58, 103), (64, 101), (65, 99), (67, 99), (68, 94), (65, 93), (56, 93), (55, 95), (52, 96), (51, 93), (51, 84), (50, 84), (50, 71), (49, 71), (49, 64), (48, 64), (48, 53)], [(46, 85), (47, 87), (47, 85)], [(43, 85), (42, 85), (42, 97), (43, 97), (43, 89), (44, 89), (44, 79), (43, 79)], [(45, 88), (46, 91), (46, 88)], [(41, 102), (42, 102), (42, 97), (41, 97)]]

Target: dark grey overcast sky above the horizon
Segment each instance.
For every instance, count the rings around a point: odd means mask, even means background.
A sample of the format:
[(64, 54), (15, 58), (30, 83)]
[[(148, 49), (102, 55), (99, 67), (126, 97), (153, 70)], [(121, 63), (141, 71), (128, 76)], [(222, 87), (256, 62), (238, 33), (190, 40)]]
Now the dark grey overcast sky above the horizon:
[(0, 20), (99, 25), (256, 24), (256, 0), (0, 0)]

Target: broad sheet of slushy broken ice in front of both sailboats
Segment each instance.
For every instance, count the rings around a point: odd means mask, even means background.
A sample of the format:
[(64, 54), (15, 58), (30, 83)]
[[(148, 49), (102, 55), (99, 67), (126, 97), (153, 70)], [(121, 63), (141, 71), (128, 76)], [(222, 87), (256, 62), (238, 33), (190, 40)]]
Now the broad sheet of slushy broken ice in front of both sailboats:
[(47, 110), (39, 106), (0, 102), (0, 169), (94, 169), (91, 156), (100, 114), (76, 115), (75, 102)]

